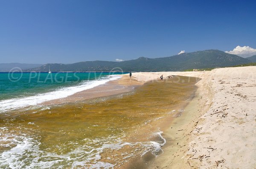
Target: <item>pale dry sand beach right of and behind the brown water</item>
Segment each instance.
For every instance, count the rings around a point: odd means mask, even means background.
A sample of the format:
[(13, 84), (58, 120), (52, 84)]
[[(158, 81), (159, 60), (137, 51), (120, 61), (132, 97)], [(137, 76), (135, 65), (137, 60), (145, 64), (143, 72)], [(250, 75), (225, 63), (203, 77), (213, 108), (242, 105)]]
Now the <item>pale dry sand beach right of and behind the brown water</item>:
[[(172, 136), (173, 128), (167, 130), (170, 137), (180, 140), (179, 145), (164, 148), (166, 152), (156, 159), (153, 168), (255, 169), (256, 67), (133, 73), (133, 78), (147, 82), (162, 74), (202, 80), (196, 84), (196, 105), (187, 108), (179, 136)], [(176, 152), (172, 152), (174, 148)]]

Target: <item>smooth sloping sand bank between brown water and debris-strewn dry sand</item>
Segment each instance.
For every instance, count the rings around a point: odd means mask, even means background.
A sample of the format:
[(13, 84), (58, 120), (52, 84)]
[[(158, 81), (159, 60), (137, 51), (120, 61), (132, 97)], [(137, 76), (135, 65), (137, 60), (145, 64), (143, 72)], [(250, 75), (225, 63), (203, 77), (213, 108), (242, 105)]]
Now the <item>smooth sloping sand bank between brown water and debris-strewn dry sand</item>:
[[(209, 103), (206, 107), (201, 107), (200, 105), (205, 104), (207, 99), (211, 100), (211, 95), (204, 90), (204, 80), (201, 79), (195, 84), (197, 89), (193, 98), (185, 105), (184, 112), (180, 116), (173, 118), (171, 123), (166, 124), (163, 128), (163, 137), (169, 143), (163, 147), (163, 154), (153, 159), (148, 168), (191, 168), (185, 158), (188, 141), (191, 139), (190, 133), (198, 124), (198, 117), (209, 109)], [(204, 94), (202, 95), (201, 93)]]

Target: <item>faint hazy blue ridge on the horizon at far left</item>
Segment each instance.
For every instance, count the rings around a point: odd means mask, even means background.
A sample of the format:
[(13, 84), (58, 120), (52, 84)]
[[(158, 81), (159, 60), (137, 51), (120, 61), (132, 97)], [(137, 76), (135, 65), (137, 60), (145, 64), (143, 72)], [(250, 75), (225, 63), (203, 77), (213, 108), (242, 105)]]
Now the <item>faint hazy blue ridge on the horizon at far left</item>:
[[(29, 64), (29, 63), (0, 63), (0, 72), (9, 72), (13, 68), (29, 69), (37, 68), (43, 64)], [(18, 69), (16, 69), (18, 70)]]

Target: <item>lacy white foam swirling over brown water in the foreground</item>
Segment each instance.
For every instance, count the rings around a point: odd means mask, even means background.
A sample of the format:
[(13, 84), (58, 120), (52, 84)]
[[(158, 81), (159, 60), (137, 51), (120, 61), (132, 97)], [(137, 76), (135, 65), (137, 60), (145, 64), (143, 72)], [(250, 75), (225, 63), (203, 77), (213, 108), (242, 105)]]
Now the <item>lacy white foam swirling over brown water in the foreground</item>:
[[(2, 137), (3, 141), (9, 141), (12, 145), (16, 144), (16, 146), (0, 155), (0, 168), (113, 168), (116, 165), (122, 165), (123, 162), (136, 155), (143, 156), (147, 152), (151, 152), (157, 156), (159, 152), (163, 151), (161, 147), (166, 143), (166, 139), (161, 135), (162, 133), (159, 131), (152, 135), (152, 137), (160, 138), (159, 141), (129, 143), (123, 142), (120, 138), (114, 140), (112, 138), (98, 139), (100, 142), (105, 141), (105, 144), (102, 144), (99, 148), (84, 145), (84, 147), (77, 147), (73, 151), (62, 155), (40, 149), (41, 143), (35, 138), (9, 135)], [(124, 161), (115, 161), (116, 163), (102, 161), (101, 154), (105, 149), (119, 150), (124, 146), (136, 147), (135, 151), (131, 153), (120, 154)], [(138, 149), (138, 147), (140, 148)]]

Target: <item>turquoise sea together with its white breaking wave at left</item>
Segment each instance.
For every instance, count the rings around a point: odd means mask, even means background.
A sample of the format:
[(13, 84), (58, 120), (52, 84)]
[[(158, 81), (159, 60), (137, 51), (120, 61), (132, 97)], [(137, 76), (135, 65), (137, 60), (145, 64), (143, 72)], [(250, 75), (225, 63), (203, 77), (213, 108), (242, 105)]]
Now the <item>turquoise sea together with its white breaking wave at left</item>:
[(70, 96), (123, 73), (0, 73), (0, 110), (36, 105)]

